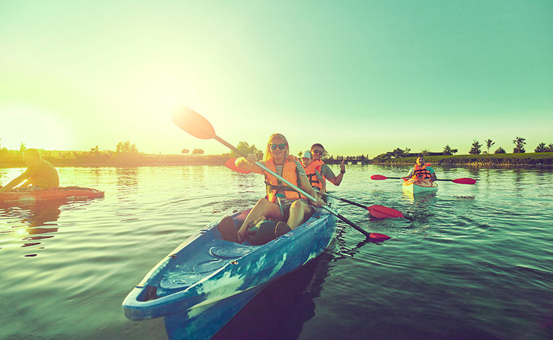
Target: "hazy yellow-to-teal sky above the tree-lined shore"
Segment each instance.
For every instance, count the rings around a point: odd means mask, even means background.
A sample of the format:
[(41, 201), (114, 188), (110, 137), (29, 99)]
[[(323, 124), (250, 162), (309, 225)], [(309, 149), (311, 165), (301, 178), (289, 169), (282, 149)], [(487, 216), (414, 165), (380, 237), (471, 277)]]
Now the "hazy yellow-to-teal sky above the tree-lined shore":
[[(553, 1), (0, 0), (0, 145), (374, 157), (553, 143)], [(485, 148), (484, 148), (485, 149)]]

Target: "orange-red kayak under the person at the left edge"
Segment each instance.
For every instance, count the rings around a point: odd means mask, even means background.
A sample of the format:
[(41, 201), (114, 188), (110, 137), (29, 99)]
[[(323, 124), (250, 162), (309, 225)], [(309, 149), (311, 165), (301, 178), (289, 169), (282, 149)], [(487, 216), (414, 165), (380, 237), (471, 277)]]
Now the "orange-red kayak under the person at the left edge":
[(55, 200), (74, 201), (104, 197), (104, 191), (78, 186), (58, 187), (46, 190), (0, 193), (0, 205), (35, 204)]

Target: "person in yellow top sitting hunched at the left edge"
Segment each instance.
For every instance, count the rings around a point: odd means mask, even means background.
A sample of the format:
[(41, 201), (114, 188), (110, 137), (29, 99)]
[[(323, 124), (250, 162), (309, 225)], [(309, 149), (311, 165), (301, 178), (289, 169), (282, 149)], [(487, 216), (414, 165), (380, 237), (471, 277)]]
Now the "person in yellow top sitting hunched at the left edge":
[(43, 190), (60, 186), (60, 179), (55, 167), (52, 163), (40, 158), (40, 152), (37, 149), (26, 149), (23, 152), (23, 159), (27, 163), (26, 171), (0, 188), (0, 193), (10, 191), (23, 182), (19, 187), (22, 190)]

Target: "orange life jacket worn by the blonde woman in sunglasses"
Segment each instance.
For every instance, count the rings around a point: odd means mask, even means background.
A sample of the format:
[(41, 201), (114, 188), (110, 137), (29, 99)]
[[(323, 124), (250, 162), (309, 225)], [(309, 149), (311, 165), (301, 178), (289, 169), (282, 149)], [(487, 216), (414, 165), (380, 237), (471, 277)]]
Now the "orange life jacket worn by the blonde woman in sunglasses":
[[(267, 166), (267, 168), (272, 170), (274, 173), (277, 173), (277, 168), (276, 166), (274, 166), (274, 162), (272, 159), (269, 159), (264, 165)], [(264, 175), (265, 184), (267, 185), (267, 199), (269, 201), (274, 202), (278, 191), (284, 191), (284, 196), (286, 196), (286, 198), (290, 200), (305, 198), (305, 196), (300, 195), (297, 191), (294, 191), (294, 189), (279, 181), (277, 177), (271, 174), (267, 174), (267, 172), (264, 172)], [(299, 173), (296, 167), (296, 157), (294, 157), (293, 155), (290, 155), (288, 159), (286, 159), (286, 161), (284, 162), (284, 167), (282, 168), (282, 177), (286, 179), (286, 181), (294, 184), (294, 186), (299, 187)]]

